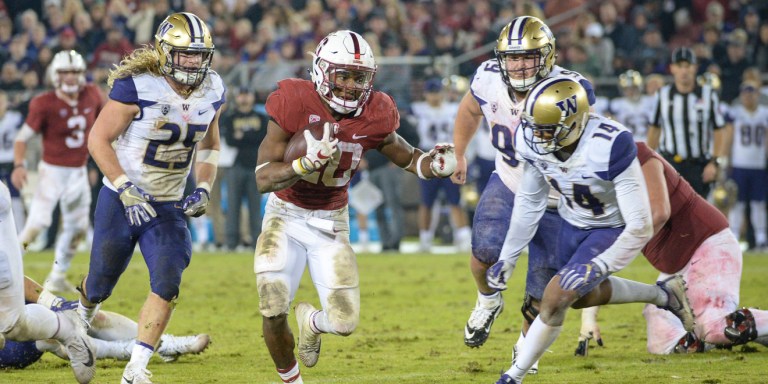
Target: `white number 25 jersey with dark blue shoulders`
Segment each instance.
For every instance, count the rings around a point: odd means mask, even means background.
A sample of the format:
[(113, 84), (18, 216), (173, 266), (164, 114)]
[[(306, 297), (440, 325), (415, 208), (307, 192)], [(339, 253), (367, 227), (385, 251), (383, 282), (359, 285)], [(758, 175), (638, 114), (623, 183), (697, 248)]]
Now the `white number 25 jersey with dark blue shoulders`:
[[(128, 179), (158, 201), (181, 200), (195, 144), (205, 137), (225, 94), (214, 71), (186, 99), (163, 76), (115, 80), (109, 98), (141, 109), (113, 144)], [(104, 184), (116, 189), (106, 178)]]

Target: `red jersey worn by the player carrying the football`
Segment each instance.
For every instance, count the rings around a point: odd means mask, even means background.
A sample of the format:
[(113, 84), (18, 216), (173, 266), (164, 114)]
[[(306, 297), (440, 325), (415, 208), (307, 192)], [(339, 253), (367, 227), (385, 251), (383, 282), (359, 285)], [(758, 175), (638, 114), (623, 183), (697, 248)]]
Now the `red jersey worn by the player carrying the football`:
[[(267, 113), (289, 135), (315, 121), (334, 121), (315, 86), (308, 80), (288, 79), (267, 99)], [(400, 126), (400, 114), (392, 98), (374, 91), (360, 116), (343, 118), (336, 130), (338, 151), (320, 170), (304, 176), (289, 188), (275, 192), (306, 209), (339, 209), (347, 204), (349, 180), (363, 153), (375, 149)]]

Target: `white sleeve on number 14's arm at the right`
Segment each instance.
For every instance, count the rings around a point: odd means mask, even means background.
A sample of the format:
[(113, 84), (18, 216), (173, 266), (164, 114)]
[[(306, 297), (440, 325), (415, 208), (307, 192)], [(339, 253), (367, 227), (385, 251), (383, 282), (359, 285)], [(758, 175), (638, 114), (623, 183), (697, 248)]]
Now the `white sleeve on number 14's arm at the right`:
[(597, 256), (611, 273), (629, 265), (653, 236), (651, 204), (640, 162), (634, 160), (613, 182), (625, 227), (616, 241)]

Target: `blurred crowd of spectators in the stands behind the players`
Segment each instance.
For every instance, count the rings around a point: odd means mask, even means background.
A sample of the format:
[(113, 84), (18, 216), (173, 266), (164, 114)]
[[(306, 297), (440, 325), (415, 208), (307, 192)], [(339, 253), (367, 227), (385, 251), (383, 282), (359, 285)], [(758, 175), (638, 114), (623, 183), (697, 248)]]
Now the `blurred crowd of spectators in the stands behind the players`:
[[(351, 29), (381, 63), (375, 86), (408, 116), (412, 102), (424, 99), (428, 79), (471, 77), (492, 57), (502, 26), (522, 14), (547, 20), (557, 37), (557, 63), (590, 76), (606, 98), (621, 96), (618, 76), (628, 69), (646, 76), (652, 94), (680, 46), (693, 48), (700, 74), (719, 76), (727, 103), (737, 99), (747, 68), (768, 72), (768, 2), (762, 1), (0, 0), (0, 89), (9, 94), (9, 108), (26, 115), (29, 99), (49, 87), (46, 70), (61, 50), (80, 52), (89, 80), (105, 88), (109, 69), (151, 44), (160, 22), (177, 11), (210, 25), (213, 68), (229, 79), (231, 103), (236, 90), (247, 89), (256, 109), (277, 81), (308, 78), (307, 52), (322, 36)], [(409, 65), (408, 58), (431, 64)], [(441, 67), (440, 60), (455, 65)], [(227, 76), (242, 68), (246, 76)]]

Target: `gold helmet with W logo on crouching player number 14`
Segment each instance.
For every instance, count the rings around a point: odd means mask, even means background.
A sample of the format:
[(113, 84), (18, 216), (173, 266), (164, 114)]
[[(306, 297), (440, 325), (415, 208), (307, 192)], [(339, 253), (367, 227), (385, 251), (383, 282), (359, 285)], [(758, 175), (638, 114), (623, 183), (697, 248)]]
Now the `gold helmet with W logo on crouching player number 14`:
[(587, 91), (569, 77), (542, 80), (531, 88), (523, 103), (523, 137), (538, 154), (575, 143), (589, 120)]

